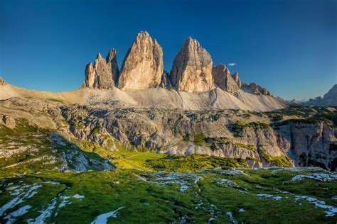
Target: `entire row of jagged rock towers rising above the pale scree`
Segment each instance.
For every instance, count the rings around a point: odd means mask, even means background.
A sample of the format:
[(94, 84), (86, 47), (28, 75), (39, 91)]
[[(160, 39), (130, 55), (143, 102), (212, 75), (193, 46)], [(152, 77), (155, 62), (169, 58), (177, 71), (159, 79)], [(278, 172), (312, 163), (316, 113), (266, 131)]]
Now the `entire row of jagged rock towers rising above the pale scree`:
[(173, 61), (171, 72), (164, 72), (163, 50), (149, 33), (137, 34), (121, 71), (117, 66), (117, 51), (112, 48), (104, 59), (97, 54), (95, 63), (85, 68), (84, 86), (92, 89), (124, 91), (164, 88), (168, 90), (203, 93), (215, 88), (230, 94), (242, 90), (250, 94), (272, 96), (267, 89), (255, 83), (242, 83), (239, 74), (230, 74), (225, 65), (213, 67), (213, 60), (198, 40), (188, 37)]

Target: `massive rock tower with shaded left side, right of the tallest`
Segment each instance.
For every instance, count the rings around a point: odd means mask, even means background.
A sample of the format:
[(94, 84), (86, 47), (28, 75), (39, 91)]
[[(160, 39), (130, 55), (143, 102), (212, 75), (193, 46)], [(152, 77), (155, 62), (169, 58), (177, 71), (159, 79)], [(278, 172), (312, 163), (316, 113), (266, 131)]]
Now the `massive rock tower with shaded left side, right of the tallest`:
[(178, 91), (204, 92), (214, 88), (213, 61), (197, 40), (188, 38), (171, 69), (171, 83)]

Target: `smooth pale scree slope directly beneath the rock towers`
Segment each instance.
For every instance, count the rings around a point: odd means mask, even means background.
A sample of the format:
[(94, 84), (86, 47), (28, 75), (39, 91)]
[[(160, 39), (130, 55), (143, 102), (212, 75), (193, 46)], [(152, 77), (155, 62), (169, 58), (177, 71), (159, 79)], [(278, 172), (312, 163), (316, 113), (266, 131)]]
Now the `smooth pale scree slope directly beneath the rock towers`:
[[(167, 84), (165, 80), (162, 81), (164, 86), (170, 86), (170, 83)], [(287, 105), (284, 101), (271, 96), (248, 94), (242, 90), (236, 94), (230, 94), (220, 88), (198, 94), (161, 87), (137, 91), (121, 91), (114, 87), (108, 90), (82, 88), (74, 91), (53, 93), (48, 91), (31, 91), (11, 86), (10, 84), (0, 86), (0, 100), (11, 97), (79, 103), (81, 105), (108, 103), (112, 108), (128, 106), (136, 108), (181, 108), (188, 110), (219, 108), (272, 111), (284, 108)]]

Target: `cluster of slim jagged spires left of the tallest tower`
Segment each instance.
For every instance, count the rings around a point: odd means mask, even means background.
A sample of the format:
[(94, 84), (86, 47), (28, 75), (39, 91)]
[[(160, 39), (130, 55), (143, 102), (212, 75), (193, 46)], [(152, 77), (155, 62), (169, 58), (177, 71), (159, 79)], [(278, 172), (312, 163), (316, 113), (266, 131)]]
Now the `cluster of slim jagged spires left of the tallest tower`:
[(91, 62), (87, 64), (84, 85), (93, 89), (113, 89), (118, 74), (117, 53), (112, 48), (106, 59), (98, 53), (94, 65)]

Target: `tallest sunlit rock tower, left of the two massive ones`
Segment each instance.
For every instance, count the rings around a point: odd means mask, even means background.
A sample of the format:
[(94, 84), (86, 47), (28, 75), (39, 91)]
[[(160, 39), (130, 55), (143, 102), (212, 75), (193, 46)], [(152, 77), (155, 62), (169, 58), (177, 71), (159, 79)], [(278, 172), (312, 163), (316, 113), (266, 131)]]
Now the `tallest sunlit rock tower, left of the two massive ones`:
[(137, 90), (159, 87), (163, 72), (161, 46), (152, 40), (149, 33), (138, 33), (124, 58), (118, 88)]

